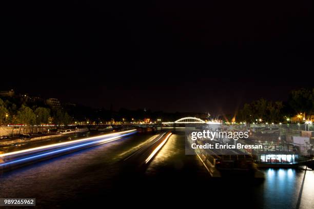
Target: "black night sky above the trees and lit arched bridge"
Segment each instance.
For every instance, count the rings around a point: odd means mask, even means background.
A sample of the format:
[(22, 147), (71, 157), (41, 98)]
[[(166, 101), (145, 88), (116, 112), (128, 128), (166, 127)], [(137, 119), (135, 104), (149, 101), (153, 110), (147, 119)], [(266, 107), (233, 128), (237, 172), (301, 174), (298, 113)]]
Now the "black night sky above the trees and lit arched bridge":
[(1, 89), (93, 107), (232, 112), (314, 86), (309, 0), (0, 8)]

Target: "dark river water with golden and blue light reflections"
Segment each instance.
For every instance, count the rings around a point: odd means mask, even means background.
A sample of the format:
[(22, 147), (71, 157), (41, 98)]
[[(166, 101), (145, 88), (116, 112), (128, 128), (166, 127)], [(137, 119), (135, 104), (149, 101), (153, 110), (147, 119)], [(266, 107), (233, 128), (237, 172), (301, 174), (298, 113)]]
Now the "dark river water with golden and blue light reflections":
[(314, 171), (265, 169), (261, 182), (239, 176), (210, 178), (197, 156), (185, 155), (181, 131), (173, 132), (145, 171), (134, 174), (124, 169), (124, 159), (158, 133), (131, 135), (4, 172), (0, 197), (36, 198), (38, 208), (109, 204), (314, 208)]

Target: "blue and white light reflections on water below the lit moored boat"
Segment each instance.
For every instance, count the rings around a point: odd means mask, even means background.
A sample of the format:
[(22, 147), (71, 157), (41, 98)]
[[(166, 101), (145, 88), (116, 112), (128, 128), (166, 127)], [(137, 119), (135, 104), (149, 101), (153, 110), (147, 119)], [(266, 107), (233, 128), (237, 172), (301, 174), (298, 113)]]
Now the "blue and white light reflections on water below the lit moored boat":
[(266, 169), (264, 172), (266, 178), (259, 188), (263, 208), (314, 208), (314, 171)]

